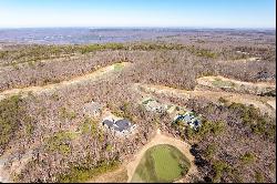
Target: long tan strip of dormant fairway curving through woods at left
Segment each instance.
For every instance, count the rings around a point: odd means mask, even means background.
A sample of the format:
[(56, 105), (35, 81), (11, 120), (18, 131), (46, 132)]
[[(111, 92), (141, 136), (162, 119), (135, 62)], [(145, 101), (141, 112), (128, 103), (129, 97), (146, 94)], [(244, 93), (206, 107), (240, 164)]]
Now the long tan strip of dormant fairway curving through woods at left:
[(102, 68), (100, 70), (96, 70), (92, 73), (82, 75), (82, 76), (76, 76), (73, 78), (71, 80), (68, 81), (62, 81), (60, 83), (54, 83), (54, 84), (48, 84), (48, 85), (43, 85), (43, 86), (28, 86), (28, 88), (23, 88), (23, 89), (12, 89), (12, 90), (7, 90), (0, 93), (0, 100), (10, 96), (10, 95), (14, 95), (14, 94), (19, 94), (21, 93), (23, 94), (28, 94), (29, 92), (32, 93), (42, 93), (42, 92), (49, 92), (49, 91), (53, 91), (53, 90), (59, 90), (61, 88), (65, 88), (65, 86), (72, 86), (72, 85), (78, 85), (78, 84), (84, 84), (86, 82), (92, 82), (92, 81), (96, 81), (100, 80), (102, 78), (107, 76), (107, 74), (113, 73), (113, 71), (115, 71), (115, 65), (121, 65), (121, 68), (123, 67), (127, 67), (130, 63), (129, 62), (122, 62), (122, 63), (115, 63), (105, 68)]

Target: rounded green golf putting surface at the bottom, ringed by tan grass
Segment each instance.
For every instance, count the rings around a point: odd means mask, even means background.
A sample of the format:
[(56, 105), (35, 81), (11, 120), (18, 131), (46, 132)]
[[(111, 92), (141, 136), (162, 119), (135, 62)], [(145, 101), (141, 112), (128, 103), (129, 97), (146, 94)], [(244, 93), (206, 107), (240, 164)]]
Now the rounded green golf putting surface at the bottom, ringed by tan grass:
[(189, 166), (189, 161), (176, 147), (156, 145), (145, 152), (132, 182), (174, 182), (185, 175)]

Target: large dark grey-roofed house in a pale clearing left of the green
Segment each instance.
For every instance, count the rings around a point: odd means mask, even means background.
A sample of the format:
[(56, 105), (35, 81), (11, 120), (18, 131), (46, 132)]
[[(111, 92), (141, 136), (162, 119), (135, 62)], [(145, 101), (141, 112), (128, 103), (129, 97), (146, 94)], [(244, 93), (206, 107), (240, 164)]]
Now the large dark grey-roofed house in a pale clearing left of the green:
[(129, 135), (133, 132), (133, 130), (136, 127), (136, 125), (132, 125), (130, 121), (123, 119), (123, 120), (104, 120), (102, 124), (113, 131), (117, 135)]

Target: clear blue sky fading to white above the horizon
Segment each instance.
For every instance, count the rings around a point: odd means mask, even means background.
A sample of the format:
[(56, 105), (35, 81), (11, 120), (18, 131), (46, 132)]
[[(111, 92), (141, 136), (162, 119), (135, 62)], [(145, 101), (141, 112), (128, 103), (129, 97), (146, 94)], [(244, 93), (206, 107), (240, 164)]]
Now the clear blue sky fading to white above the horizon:
[(0, 28), (276, 28), (275, 0), (0, 0)]

